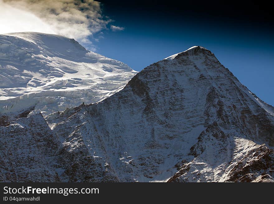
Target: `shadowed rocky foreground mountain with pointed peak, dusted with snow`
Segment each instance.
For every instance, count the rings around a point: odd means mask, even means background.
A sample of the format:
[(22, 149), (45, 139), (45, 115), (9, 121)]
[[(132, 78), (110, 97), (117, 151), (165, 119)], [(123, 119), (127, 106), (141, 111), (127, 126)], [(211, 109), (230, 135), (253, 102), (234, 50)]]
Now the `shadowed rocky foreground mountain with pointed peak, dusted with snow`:
[(200, 46), (101, 102), (30, 111), (0, 118), (1, 181), (274, 182), (274, 107)]

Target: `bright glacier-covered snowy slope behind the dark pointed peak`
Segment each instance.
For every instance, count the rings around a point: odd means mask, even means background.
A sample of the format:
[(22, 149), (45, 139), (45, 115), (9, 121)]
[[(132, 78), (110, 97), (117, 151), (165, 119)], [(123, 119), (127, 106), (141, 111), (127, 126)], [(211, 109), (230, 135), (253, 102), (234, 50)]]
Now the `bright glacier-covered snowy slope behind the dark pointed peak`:
[(136, 73), (74, 39), (33, 32), (0, 35), (0, 113), (35, 106), (32, 113), (48, 115), (98, 102)]

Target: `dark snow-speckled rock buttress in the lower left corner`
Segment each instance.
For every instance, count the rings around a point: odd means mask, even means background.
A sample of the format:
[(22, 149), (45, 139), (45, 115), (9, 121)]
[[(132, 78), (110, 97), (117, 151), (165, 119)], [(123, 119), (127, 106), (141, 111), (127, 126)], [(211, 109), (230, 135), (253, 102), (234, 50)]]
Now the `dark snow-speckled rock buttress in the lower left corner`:
[(0, 127), (1, 182), (56, 182), (51, 161), (60, 143), (42, 114), (21, 117)]

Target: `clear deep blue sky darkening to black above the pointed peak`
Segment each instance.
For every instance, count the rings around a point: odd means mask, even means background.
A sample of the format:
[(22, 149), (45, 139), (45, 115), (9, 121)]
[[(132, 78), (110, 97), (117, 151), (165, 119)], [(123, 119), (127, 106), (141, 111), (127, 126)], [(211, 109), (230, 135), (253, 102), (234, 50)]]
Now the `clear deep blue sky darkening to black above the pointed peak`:
[(215, 54), (253, 93), (274, 106), (274, 29), (271, 7), (252, 1), (102, 1), (122, 31), (106, 30), (97, 52), (140, 71), (194, 45)]

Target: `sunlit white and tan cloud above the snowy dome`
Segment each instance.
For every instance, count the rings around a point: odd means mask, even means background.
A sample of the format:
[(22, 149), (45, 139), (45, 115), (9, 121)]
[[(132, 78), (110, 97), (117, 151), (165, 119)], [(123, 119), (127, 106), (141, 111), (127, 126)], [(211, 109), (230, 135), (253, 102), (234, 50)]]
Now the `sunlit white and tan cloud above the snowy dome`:
[[(0, 19), (0, 33), (60, 34), (86, 45), (112, 21), (93, 0), (0, 0)], [(123, 29), (111, 25), (113, 31)]]

